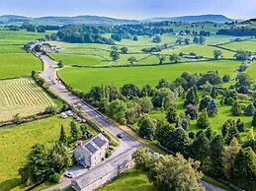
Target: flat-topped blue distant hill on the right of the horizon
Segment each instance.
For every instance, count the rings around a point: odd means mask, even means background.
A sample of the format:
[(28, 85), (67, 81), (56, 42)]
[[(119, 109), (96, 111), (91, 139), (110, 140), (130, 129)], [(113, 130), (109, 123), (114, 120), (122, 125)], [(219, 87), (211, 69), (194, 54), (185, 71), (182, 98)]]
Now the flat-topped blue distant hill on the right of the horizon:
[(213, 22), (213, 23), (225, 23), (233, 22), (223, 15), (200, 15), (200, 16), (182, 16), (182, 17), (171, 17), (171, 18), (152, 18), (145, 20), (146, 22), (185, 22), (185, 23), (198, 23), (198, 22)]

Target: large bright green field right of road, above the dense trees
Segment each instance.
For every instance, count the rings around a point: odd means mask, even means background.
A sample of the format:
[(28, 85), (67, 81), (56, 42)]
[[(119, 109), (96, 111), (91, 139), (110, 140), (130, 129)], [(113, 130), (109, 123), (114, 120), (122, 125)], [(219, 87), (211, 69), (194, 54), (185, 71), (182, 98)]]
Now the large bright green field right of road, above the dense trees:
[[(139, 87), (155, 86), (160, 79), (173, 81), (184, 71), (191, 73), (218, 70), (220, 75), (235, 76), (234, 70), (239, 61), (217, 60), (193, 63), (178, 63), (164, 66), (122, 67), (122, 68), (65, 68), (59, 71), (60, 77), (68, 85), (81, 91), (89, 91), (93, 86), (113, 85), (121, 87), (134, 84)], [(83, 82), (83, 83), (81, 83)]]

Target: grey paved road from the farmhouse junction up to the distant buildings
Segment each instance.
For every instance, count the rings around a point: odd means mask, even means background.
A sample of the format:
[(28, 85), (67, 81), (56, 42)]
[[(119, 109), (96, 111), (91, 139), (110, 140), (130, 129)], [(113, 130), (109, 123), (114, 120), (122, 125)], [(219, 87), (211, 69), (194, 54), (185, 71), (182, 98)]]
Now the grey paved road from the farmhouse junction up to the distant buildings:
[[(117, 136), (120, 133), (122, 133), (124, 135), (124, 138), (121, 140), (120, 146), (114, 152), (112, 157), (110, 159), (106, 160), (105, 162), (107, 162), (111, 159), (114, 159), (115, 157), (117, 157), (119, 155), (127, 153), (128, 150), (138, 148), (138, 147), (142, 147), (142, 145), (138, 141), (136, 141), (134, 138), (132, 138), (127, 133), (123, 132), (120, 128), (115, 126), (113, 123), (108, 121), (106, 119), (106, 117), (103, 114), (101, 114), (98, 110), (96, 110), (94, 107), (87, 104), (86, 102), (84, 102), (83, 100), (78, 98), (77, 96), (71, 95), (65, 89), (64, 85), (60, 81), (55, 79), (56, 77), (54, 75), (54, 67), (56, 67), (56, 63), (52, 59), (50, 59), (48, 56), (45, 56), (45, 55), (42, 55), (41, 59), (43, 60), (44, 66), (46, 66), (44, 68), (48, 68), (48, 70), (44, 71), (44, 73), (41, 76), (47, 82), (50, 83), (50, 86), (51, 86), (52, 89), (54, 89), (61, 96), (65, 97), (66, 100), (69, 100), (73, 103), (80, 103), (82, 105), (82, 110), (87, 115), (92, 117), (95, 121), (97, 121), (99, 124), (104, 126), (106, 129), (111, 131), (114, 135)], [(99, 167), (104, 167), (104, 165), (101, 164), (101, 165), (99, 165)], [(77, 175), (81, 175), (83, 173), (89, 173), (88, 169), (80, 168), (79, 166), (73, 166), (73, 167), (70, 168), (70, 170), (75, 171)], [(47, 189), (47, 190), (53, 190), (53, 189), (56, 189), (56, 188), (65, 187), (67, 185), (70, 185), (70, 182), (71, 182), (70, 179), (64, 179), (64, 182), (62, 184), (57, 185), (57, 186), (52, 187), (52, 188)], [(204, 183), (204, 186), (206, 187), (207, 191), (221, 191), (221, 189), (218, 189), (218, 188), (214, 187), (211, 184), (208, 184), (208, 183), (205, 183), (205, 182), (203, 182), (203, 183)]]

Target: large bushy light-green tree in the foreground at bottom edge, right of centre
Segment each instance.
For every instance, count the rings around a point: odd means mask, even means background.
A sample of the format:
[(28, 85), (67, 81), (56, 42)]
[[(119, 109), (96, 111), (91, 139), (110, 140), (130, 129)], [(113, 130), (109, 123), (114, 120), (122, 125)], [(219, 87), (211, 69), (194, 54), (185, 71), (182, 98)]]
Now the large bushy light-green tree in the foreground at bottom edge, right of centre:
[[(184, 159), (180, 154), (176, 157), (155, 157), (154, 164), (149, 169), (149, 180), (157, 190), (161, 191), (203, 191), (205, 188), (197, 181), (202, 177), (198, 171), (199, 162)], [(166, 174), (169, 174), (166, 176)], [(190, 174), (188, 176), (188, 174)]]

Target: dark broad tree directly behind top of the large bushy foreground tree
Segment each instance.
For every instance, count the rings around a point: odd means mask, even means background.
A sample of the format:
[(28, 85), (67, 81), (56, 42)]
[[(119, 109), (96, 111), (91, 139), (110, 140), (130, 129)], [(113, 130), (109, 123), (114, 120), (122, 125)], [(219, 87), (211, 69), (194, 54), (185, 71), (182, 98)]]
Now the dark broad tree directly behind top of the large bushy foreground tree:
[(186, 151), (189, 145), (189, 137), (182, 127), (176, 128), (170, 135), (167, 148), (174, 153), (182, 153)]

